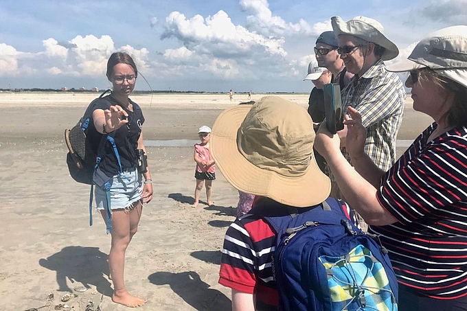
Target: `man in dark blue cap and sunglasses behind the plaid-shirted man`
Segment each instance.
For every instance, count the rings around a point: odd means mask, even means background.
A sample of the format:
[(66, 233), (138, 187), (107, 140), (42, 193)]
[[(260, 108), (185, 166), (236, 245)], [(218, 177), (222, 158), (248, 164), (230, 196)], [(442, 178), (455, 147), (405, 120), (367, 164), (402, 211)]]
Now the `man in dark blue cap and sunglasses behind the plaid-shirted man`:
[(343, 90), (354, 74), (345, 69), (343, 60), (337, 54), (338, 47), (334, 32), (323, 32), (317, 38), (314, 50), (318, 66), (328, 69), (332, 73), (332, 83), (339, 84)]

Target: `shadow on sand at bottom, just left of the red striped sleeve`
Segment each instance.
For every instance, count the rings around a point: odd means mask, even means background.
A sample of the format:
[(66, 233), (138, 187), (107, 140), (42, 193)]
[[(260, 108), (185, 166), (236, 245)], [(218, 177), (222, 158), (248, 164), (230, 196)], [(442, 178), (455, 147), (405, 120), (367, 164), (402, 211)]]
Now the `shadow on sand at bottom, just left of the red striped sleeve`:
[(155, 285), (170, 285), (170, 288), (196, 310), (232, 310), (231, 301), (218, 290), (209, 288), (194, 271), (170, 273), (157, 272), (148, 277)]

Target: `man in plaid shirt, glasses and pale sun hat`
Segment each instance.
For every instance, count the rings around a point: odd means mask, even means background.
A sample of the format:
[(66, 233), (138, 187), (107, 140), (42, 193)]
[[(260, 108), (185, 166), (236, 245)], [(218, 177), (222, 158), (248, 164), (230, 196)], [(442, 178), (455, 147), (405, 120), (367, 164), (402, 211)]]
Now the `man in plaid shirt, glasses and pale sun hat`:
[[(396, 161), (396, 136), (402, 123), (405, 89), (400, 78), (386, 71), (383, 60), (396, 58), (399, 50), (383, 34), (383, 25), (365, 16), (350, 21), (341, 17), (331, 18), (332, 30), (339, 43), (337, 52), (354, 78), (341, 92), (343, 112), (348, 106), (361, 112), (363, 126), (367, 129), (365, 152), (382, 170), (388, 170)], [(342, 152), (345, 150), (347, 128), (339, 132)], [(343, 198), (337, 183), (332, 180), (331, 196)], [(361, 222), (363, 229), (365, 223)]]

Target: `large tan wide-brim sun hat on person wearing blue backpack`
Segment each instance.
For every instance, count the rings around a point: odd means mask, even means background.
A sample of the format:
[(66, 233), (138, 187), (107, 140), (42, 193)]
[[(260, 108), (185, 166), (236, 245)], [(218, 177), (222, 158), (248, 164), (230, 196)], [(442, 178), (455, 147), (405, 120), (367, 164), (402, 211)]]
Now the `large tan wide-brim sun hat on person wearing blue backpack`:
[(326, 200), (331, 184), (313, 154), (315, 130), (305, 108), (281, 97), (227, 108), (211, 133), (211, 151), (227, 181), (247, 194), (308, 207)]

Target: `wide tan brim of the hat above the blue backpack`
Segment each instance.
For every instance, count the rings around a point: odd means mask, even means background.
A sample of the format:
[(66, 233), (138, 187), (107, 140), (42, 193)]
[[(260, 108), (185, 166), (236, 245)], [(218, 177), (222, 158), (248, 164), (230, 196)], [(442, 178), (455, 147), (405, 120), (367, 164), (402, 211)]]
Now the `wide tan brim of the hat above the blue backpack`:
[(326, 200), (331, 189), (330, 179), (319, 170), (314, 155), (304, 174), (291, 177), (258, 168), (238, 151), (238, 128), (250, 108), (250, 105), (228, 108), (212, 128), (212, 156), (225, 179), (242, 192), (266, 196), (294, 207), (313, 206)]

